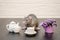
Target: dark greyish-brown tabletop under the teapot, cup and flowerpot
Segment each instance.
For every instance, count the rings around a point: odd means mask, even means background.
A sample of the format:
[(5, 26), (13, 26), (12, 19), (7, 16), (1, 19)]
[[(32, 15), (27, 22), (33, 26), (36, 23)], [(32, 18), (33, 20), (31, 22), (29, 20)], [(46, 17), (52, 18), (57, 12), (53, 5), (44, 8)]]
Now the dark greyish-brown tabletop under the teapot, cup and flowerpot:
[[(47, 39), (44, 37), (44, 29), (38, 31), (38, 34), (33, 37), (27, 37), (24, 34), (24, 30), (21, 30), (20, 34), (11, 34), (6, 30), (6, 24), (10, 21), (19, 22), (22, 27), (22, 18), (0, 18), (0, 40), (60, 40), (60, 18), (55, 18), (57, 21), (57, 27), (55, 27), (53, 37)], [(42, 22), (45, 18), (40, 18), (38, 21)]]

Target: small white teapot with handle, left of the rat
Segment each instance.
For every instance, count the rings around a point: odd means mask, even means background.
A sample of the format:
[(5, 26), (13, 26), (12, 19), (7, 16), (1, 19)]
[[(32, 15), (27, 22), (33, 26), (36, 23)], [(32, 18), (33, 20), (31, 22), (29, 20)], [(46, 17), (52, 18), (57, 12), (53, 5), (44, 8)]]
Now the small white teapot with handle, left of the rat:
[(15, 33), (19, 33), (21, 30), (19, 23), (16, 23), (14, 21), (11, 21), (10, 24), (7, 24), (6, 28), (9, 32), (15, 32)]

